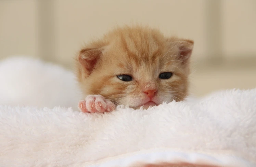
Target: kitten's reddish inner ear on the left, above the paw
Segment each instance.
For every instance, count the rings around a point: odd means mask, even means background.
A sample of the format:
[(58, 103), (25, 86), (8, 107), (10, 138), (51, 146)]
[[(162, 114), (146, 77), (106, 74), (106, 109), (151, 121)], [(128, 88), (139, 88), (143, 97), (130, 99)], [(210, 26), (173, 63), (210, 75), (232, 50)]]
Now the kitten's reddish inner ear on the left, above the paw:
[(102, 48), (85, 48), (79, 52), (78, 62), (87, 75), (90, 75), (100, 56)]

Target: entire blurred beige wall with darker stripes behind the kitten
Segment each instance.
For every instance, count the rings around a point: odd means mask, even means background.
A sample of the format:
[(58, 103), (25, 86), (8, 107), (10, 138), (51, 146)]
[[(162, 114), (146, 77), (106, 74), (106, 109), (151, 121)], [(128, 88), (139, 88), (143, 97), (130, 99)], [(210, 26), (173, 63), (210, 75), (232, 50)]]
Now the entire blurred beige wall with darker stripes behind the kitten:
[(135, 23), (195, 41), (191, 93), (256, 87), (255, 0), (0, 0), (0, 60), (71, 69), (84, 42)]

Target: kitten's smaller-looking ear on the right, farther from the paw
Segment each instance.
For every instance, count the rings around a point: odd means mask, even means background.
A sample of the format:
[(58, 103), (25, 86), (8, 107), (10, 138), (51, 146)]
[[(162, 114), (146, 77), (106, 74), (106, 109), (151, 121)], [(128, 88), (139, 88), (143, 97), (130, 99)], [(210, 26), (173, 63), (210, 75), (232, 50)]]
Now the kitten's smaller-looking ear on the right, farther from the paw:
[(177, 41), (176, 43), (179, 51), (178, 59), (182, 64), (187, 64), (188, 60), (192, 54), (194, 41), (192, 40), (182, 40)]

